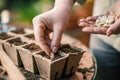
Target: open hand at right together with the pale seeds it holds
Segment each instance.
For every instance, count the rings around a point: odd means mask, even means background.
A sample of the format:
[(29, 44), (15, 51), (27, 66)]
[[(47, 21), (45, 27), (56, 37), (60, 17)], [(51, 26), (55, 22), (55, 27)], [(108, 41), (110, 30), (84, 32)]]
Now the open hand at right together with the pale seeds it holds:
[(120, 34), (120, 0), (105, 14), (91, 16), (79, 21), (82, 31), (94, 34)]

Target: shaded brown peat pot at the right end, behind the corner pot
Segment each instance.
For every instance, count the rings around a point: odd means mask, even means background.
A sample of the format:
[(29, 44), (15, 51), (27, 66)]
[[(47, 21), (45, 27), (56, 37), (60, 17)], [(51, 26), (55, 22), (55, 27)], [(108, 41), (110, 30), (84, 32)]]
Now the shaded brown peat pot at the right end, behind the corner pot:
[(71, 47), (68, 44), (63, 45), (59, 50), (61, 51), (61, 53), (66, 53), (69, 55), (62, 75), (63, 77), (65, 77), (76, 71), (76, 68), (79, 65), (80, 59), (84, 51), (76, 47)]

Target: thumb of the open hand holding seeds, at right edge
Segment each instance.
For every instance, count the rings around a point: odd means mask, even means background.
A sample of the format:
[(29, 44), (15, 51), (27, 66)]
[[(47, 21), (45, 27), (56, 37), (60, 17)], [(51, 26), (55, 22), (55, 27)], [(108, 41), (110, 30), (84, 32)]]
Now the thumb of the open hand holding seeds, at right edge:
[(111, 34), (119, 34), (120, 33), (120, 19), (117, 20), (114, 24), (112, 24), (106, 34), (110, 36)]

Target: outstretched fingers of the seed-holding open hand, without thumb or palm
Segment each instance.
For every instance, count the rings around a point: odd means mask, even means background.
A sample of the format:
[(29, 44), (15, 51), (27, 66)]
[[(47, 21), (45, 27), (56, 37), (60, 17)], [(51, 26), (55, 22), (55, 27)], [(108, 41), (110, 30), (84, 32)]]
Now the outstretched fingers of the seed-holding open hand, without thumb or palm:
[[(101, 16), (101, 15), (100, 15)], [(97, 27), (95, 21), (99, 16), (91, 16), (79, 21), (79, 26), (83, 27), (82, 31), (94, 34), (106, 34), (107, 27)]]

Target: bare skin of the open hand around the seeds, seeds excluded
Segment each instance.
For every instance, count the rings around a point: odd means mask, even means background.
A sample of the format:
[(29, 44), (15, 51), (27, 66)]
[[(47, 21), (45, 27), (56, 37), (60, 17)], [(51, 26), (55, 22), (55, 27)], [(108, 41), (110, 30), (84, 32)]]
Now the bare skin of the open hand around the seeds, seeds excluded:
[[(109, 27), (96, 27), (94, 25), (96, 19), (102, 15), (109, 15), (110, 12), (116, 15), (115, 22)], [(110, 36), (111, 34), (120, 33), (120, 0), (118, 0), (112, 7), (105, 13), (99, 16), (91, 16), (79, 21), (79, 26), (83, 27), (82, 31), (94, 34), (104, 34)]]

